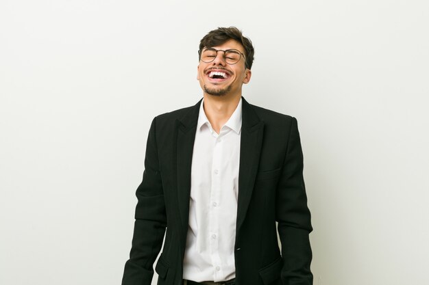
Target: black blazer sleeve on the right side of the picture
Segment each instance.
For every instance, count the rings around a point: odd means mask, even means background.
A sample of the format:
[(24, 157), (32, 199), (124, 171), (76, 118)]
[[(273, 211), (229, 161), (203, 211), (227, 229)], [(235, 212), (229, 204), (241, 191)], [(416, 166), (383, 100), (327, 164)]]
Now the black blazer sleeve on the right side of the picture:
[(282, 243), (284, 285), (311, 285), (312, 231), (303, 178), (303, 155), (297, 120), (292, 118), (289, 142), (277, 189), (276, 219)]

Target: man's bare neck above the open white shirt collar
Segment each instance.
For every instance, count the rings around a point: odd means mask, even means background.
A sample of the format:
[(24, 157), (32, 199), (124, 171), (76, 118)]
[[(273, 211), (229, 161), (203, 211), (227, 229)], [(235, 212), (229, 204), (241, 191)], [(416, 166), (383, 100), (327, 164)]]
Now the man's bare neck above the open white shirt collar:
[(219, 134), (222, 126), (234, 113), (241, 95), (212, 96), (204, 94), (204, 112), (212, 128)]

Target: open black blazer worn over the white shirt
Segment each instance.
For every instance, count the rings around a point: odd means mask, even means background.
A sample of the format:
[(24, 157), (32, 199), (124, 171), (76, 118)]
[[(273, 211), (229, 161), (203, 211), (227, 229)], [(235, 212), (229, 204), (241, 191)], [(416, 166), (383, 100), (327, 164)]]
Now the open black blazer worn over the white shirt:
[[(123, 285), (182, 284), (191, 162), (199, 105), (157, 116), (149, 131), (143, 181)], [(310, 211), (297, 121), (243, 98), (235, 265), (237, 285), (310, 285)], [(278, 246), (275, 221), (282, 250)], [(167, 227), (167, 232), (166, 232)]]

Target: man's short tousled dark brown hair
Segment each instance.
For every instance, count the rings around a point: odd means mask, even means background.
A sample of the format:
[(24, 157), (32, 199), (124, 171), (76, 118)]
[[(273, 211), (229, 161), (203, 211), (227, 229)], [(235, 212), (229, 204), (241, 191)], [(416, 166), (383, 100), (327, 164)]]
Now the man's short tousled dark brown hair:
[(199, 42), (199, 54), (201, 54), (201, 51), (205, 47), (219, 46), (228, 42), (228, 40), (236, 40), (243, 45), (245, 49), (245, 64), (247, 68), (251, 69), (254, 62), (254, 46), (252, 45), (252, 41), (243, 36), (243, 33), (236, 27), (219, 27), (209, 31)]

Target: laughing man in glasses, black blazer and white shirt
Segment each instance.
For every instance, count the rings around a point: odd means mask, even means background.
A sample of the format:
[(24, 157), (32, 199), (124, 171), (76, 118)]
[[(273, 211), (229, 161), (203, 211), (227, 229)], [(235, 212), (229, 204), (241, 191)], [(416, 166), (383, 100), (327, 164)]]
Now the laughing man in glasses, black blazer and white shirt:
[(204, 98), (153, 120), (123, 285), (151, 284), (164, 234), (160, 285), (312, 284), (297, 121), (241, 96), (253, 59), (235, 27), (210, 31), (199, 45)]

